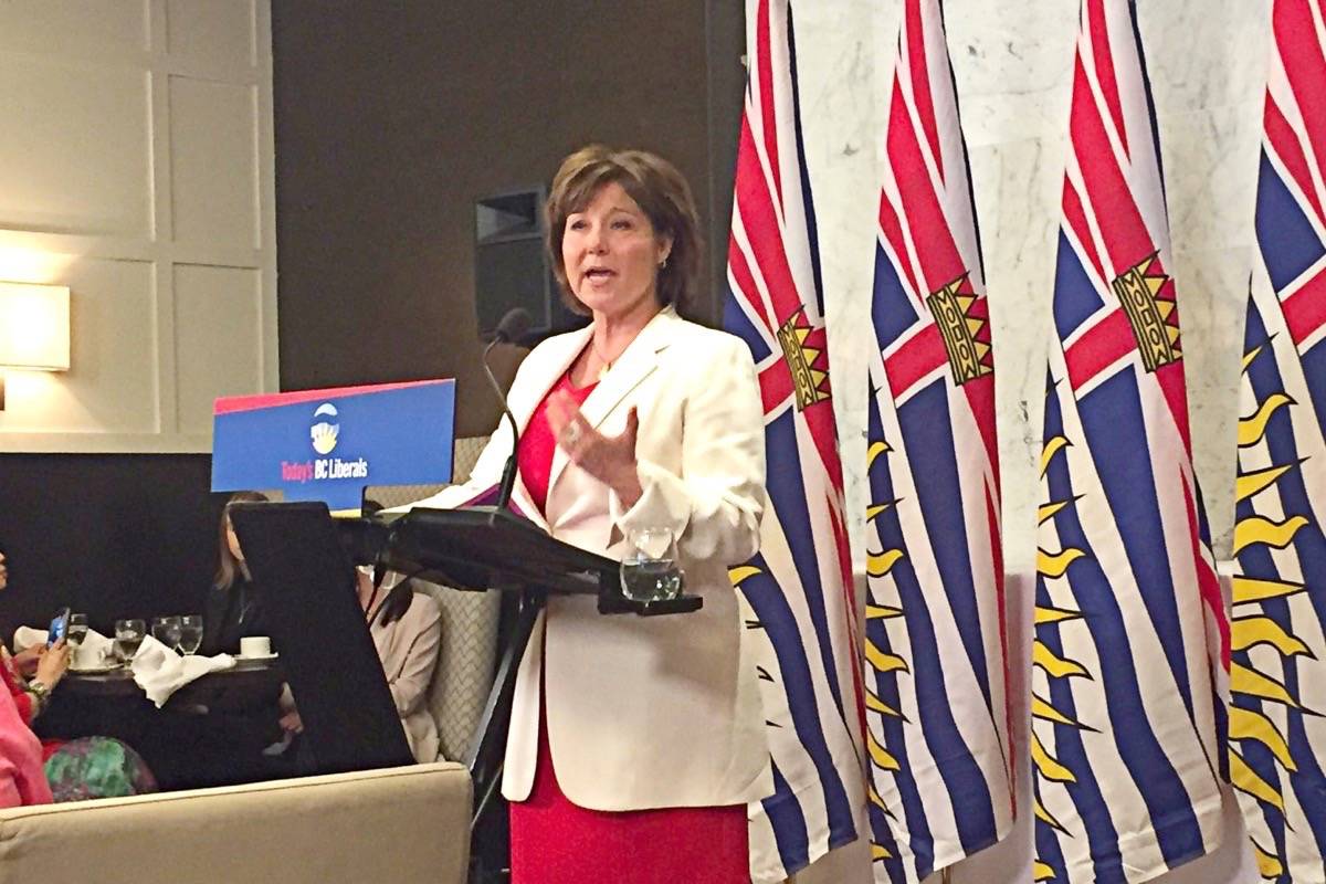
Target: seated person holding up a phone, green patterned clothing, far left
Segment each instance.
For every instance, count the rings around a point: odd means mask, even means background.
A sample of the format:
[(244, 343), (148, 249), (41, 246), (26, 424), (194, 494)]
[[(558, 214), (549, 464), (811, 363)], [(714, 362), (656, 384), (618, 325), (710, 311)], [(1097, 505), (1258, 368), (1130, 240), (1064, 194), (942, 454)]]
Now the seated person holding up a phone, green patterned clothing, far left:
[[(9, 570), (4, 553), (0, 553), (0, 590), (8, 583)], [(0, 680), (8, 688), (15, 712), (29, 733), (32, 721), (45, 710), (52, 692), (68, 669), (69, 648), (64, 639), (49, 648), (45, 644), (25, 648), (16, 656), (0, 644)], [(36, 740), (36, 734), (32, 738)], [(48, 740), (41, 744), (41, 758), (45, 761), (49, 793), (57, 802), (156, 791), (156, 778), (138, 753), (111, 737)], [(32, 795), (44, 794), (40, 789), (28, 789)]]

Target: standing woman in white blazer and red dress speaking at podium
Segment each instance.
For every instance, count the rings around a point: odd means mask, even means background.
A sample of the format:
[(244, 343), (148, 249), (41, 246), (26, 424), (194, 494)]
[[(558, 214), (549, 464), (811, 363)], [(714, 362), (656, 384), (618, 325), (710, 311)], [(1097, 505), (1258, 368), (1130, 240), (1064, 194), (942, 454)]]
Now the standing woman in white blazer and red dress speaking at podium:
[[(756, 669), (728, 566), (758, 546), (764, 429), (749, 350), (680, 318), (700, 236), (682, 175), (642, 151), (562, 163), (548, 247), (587, 329), (536, 347), (512, 386), (514, 504), (553, 537), (622, 558), (633, 529), (678, 538), (678, 616), (601, 616), (553, 596), (521, 660), (503, 794), (512, 880), (748, 881), (745, 804), (773, 791)], [(503, 425), (456, 506), (495, 484)]]

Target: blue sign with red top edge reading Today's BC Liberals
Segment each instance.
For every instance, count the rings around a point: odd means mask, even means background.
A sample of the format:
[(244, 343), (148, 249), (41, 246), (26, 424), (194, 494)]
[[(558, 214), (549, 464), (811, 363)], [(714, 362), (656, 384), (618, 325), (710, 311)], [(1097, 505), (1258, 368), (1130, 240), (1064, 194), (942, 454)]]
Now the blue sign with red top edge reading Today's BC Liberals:
[(365, 485), (451, 481), (455, 380), (224, 396), (212, 490), (281, 490), (358, 510)]

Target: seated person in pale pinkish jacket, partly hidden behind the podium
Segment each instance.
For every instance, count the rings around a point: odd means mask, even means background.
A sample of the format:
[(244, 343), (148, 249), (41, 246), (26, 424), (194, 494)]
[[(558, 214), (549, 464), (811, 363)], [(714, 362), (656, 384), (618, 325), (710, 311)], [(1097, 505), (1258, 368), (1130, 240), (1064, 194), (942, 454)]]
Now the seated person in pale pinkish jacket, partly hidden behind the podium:
[[(415, 592), (411, 582), (400, 577), (389, 573), (383, 586), (374, 590), (371, 570), (358, 569), (355, 586), (410, 751), (424, 763), (438, 761), (438, 724), (428, 710), (428, 688), (442, 651), (442, 610), (436, 599)], [(289, 692), (282, 706), (281, 726), (290, 733), (304, 730)]]

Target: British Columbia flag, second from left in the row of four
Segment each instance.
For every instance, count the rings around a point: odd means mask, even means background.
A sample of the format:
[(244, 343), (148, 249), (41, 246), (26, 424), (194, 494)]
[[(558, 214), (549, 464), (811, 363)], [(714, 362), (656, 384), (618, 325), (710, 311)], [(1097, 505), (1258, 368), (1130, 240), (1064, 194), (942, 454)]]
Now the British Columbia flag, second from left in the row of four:
[(906, 0), (870, 364), (866, 745), (875, 880), (1013, 824), (989, 307), (940, 0)]

